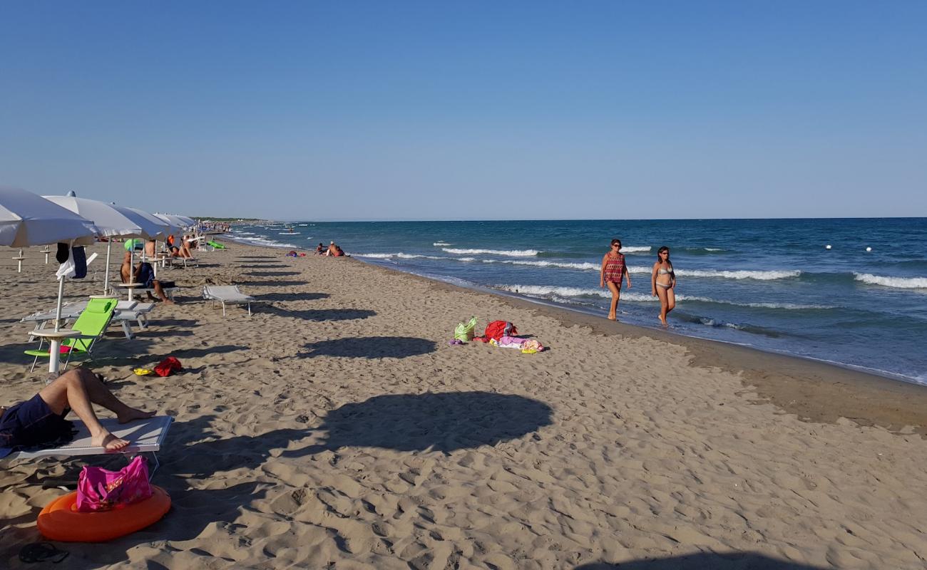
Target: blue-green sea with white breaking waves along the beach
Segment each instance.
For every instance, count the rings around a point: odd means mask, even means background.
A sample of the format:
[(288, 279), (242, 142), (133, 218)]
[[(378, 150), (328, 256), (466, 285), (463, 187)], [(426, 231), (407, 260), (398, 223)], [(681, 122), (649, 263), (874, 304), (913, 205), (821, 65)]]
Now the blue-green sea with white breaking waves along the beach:
[(670, 332), (927, 385), (927, 218), (262, 222), (228, 236), (307, 253), (334, 240), (375, 265), (603, 318), (599, 270), (618, 238), (631, 275), (618, 319), (651, 328), (651, 269), (667, 246)]

